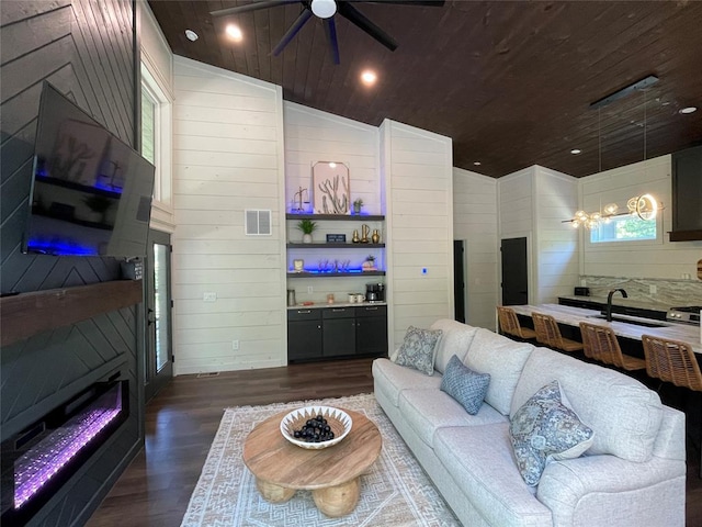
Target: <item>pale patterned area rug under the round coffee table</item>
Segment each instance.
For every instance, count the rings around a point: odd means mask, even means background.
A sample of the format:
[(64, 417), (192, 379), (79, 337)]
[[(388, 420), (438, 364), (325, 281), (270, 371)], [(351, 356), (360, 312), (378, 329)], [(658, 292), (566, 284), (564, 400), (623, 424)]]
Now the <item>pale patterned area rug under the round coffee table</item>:
[[(241, 460), (244, 441), (260, 422), (285, 410), (324, 404), (354, 410), (373, 421), (383, 436), (378, 460), (361, 478), (361, 498), (348, 516), (328, 518), (308, 491), (285, 503), (270, 504)], [(239, 406), (225, 411), (181, 527), (427, 526), (461, 524), (385, 416), (373, 394)]]

